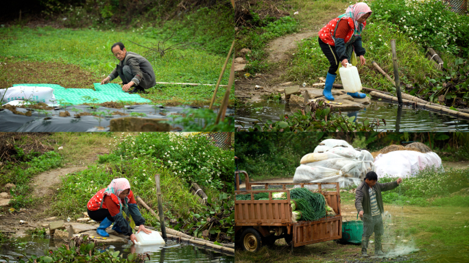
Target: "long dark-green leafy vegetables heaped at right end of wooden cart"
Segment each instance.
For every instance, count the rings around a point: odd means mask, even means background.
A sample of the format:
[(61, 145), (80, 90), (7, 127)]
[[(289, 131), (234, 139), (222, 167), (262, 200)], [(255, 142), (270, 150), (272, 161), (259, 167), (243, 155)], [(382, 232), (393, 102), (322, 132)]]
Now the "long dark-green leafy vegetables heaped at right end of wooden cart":
[(326, 216), (326, 199), (320, 193), (306, 188), (293, 188), (290, 197), (296, 201), (296, 209), (302, 211), (302, 220), (315, 221)]

